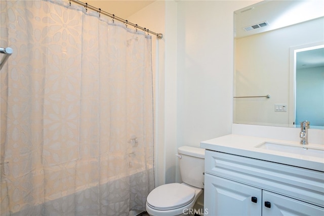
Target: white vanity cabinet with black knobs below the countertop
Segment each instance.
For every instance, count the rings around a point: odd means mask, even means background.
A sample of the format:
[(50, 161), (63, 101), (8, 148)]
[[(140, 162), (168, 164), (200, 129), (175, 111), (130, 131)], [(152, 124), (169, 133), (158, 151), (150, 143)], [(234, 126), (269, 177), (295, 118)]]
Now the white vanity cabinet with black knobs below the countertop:
[(206, 150), (209, 215), (324, 215), (324, 174)]

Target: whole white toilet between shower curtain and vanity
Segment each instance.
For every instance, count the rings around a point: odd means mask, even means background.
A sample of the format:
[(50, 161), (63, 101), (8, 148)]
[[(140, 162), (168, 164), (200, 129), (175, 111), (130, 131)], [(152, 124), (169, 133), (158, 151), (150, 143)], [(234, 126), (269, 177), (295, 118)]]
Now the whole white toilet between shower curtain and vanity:
[(146, 199), (146, 211), (151, 216), (188, 215), (204, 189), (205, 149), (190, 146), (178, 148), (180, 174), (183, 183), (161, 185)]

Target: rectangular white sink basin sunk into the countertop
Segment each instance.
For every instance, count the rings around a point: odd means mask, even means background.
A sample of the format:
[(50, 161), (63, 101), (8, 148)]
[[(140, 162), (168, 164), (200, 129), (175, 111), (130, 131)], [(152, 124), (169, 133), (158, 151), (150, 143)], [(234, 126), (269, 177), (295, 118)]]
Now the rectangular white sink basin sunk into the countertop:
[(297, 145), (286, 144), (286, 143), (264, 142), (255, 147), (259, 149), (268, 149), (272, 151), (287, 152), (287, 153), (310, 156), (310, 157), (324, 158), (324, 149), (310, 148), (308, 147), (308, 145), (297, 146)]

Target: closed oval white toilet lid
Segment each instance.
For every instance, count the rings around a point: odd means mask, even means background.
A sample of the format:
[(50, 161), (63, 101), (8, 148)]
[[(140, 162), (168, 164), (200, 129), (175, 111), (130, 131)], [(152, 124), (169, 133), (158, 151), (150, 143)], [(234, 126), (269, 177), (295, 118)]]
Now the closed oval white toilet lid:
[(149, 193), (147, 204), (157, 210), (175, 209), (192, 202), (194, 194), (192, 188), (183, 184), (161, 185)]

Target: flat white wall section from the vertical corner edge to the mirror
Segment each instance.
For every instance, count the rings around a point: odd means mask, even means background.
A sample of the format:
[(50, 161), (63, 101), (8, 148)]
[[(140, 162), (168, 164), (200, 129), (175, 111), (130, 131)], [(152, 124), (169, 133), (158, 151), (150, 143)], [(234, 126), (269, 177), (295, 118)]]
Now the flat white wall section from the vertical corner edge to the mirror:
[(256, 2), (178, 2), (177, 147), (231, 133), (233, 12)]

